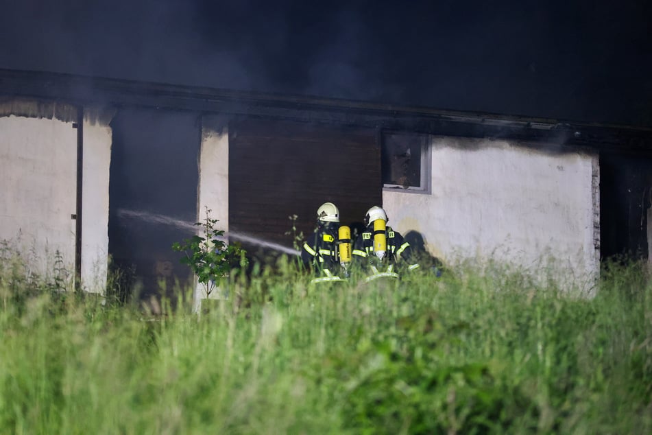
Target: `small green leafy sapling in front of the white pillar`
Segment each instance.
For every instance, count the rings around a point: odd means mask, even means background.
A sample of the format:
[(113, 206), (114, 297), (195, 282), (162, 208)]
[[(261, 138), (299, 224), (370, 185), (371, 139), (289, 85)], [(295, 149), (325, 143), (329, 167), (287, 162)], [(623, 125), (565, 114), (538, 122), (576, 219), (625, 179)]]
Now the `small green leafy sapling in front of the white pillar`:
[(247, 266), (245, 250), (239, 244), (224, 242), (224, 230), (217, 228), (217, 219), (210, 217), (211, 210), (206, 207), (206, 217), (196, 222), (202, 230), (183, 242), (174, 242), (172, 250), (183, 252), (182, 264), (190, 266), (197, 281), (204, 285), (206, 298), (215, 288), (228, 279), (234, 269)]

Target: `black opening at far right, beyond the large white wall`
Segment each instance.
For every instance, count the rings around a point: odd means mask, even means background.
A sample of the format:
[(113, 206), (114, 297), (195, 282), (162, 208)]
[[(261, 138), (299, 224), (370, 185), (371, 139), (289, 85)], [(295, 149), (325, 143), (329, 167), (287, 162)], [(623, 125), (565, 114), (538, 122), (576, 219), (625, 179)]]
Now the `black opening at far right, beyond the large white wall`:
[(647, 259), (652, 159), (600, 156), (601, 259)]

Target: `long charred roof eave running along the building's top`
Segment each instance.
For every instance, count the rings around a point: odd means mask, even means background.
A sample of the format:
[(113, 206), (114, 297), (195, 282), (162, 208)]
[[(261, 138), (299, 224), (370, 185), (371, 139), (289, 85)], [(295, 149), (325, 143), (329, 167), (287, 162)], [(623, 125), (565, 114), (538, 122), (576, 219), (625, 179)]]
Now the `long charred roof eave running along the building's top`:
[(0, 69), (0, 95), (652, 152), (652, 128)]

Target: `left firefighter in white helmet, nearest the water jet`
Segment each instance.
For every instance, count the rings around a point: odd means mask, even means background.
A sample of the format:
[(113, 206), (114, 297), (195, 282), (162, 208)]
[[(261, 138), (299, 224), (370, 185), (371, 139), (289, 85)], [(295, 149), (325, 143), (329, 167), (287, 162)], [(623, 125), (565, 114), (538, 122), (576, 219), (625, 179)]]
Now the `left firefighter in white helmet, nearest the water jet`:
[(340, 226), (339, 209), (333, 202), (324, 202), (319, 206), (317, 228), (301, 249), (304, 265), (312, 268), (317, 274), (313, 283), (346, 281), (351, 252), (350, 232), (348, 233), (348, 260), (346, 250), (343, 250), (346, 248), (347, 241), (342, 235), (346, 236), (347, 229), (348, 226)]

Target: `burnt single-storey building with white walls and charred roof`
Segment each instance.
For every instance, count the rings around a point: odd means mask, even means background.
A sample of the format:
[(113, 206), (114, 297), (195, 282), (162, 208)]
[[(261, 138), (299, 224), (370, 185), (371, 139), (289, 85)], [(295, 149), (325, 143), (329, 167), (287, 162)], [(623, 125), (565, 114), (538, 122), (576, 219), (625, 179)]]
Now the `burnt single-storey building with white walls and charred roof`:
[(0, 239), (54, 252), (90, 292), (109, 259), (156, 292), (206, 209), (255, 251), (291, 249), (335, 202), (372, 205), (448, 263), (496, 259), (589, 288), (649, 257), (652, 131), (0, 70)]

